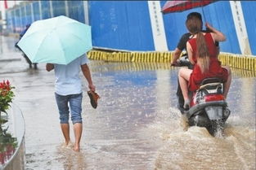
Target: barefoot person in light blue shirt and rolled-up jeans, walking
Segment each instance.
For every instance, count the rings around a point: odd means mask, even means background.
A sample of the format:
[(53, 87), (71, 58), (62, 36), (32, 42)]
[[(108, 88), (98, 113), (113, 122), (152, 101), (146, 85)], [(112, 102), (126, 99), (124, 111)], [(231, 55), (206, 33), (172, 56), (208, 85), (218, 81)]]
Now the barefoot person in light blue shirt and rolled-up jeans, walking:
[(82, 82), (79, 72), (82, 70), (83, 76), (88, 81), (88, 88), (95, 91), (96, 87), (92, 84), (92, 76), (88, 68), (88, 57), (83, 54), (74, 59), (67, 65), (63, 64), (46, 64), (48, 72), (54, 69), (55, 81), (55, 97), (56, 104), (60, 114), (61, 130), (65, 137), (65, 147), (71, 147), (70, 142), (70, 116), (74, 124), (74, 151), (80, 151), (80, 139), (82, 136)]

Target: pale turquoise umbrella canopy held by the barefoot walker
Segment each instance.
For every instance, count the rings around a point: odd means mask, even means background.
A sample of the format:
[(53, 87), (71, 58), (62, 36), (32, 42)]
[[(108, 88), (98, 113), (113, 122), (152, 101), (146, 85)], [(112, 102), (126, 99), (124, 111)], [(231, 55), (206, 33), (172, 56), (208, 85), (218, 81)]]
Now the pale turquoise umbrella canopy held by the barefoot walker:
[(38, 20), (17, 45), (32, 63), (68, 64), (92, 49), (91, 27), (63, 15)]

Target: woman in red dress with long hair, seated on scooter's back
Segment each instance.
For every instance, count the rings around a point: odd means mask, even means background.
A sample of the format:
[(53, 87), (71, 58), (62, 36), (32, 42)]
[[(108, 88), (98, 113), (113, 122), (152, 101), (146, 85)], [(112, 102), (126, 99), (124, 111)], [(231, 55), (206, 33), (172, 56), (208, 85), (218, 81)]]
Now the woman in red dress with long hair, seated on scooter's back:
[(186, 42), (188, 58), (194, 69), (182, 68), (178, 73), (179, 83), (185, 100), (184, 108), (189, 108), (188, 90), (199, 89), (201, 81), (207, 77), (218, 77), (224, 82), (224, 97), (231, 85), (231, 69), (222, 67), (218, 60), (218, 50), (215, 41), (225, 41), (226, 37), (209, 24), (205, 24), (213, 33), (202, 33), (202, 22), (196, 17), (186, 20), (186, 28), (193, 37)]

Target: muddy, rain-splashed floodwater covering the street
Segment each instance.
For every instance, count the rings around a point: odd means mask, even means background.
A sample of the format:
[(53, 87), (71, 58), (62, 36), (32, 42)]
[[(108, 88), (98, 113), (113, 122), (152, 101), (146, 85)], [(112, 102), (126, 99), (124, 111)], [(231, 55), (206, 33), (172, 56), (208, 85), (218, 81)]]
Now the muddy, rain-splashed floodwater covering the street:
[[(7, 53), (19, 58), (11, 48)], [(0, 80), (16, 86), (15, 102), (25, 118), (26, 170), (256, 169), (254, 72), (232, 69), (231, 116), (223, 135), (212, 137), (204, 128), (187, 127), (177, 110), (179, 68), (102, 61), (89, 66), (101, 99), (93, 109), (83, 93), (82, 148), (75, 153), (61, 148), (54, 72), (46, 72), (44, 64), (29, 69), (22, 58), (0, 63)], [(72, 126), (70, 133), (74, 139)]]

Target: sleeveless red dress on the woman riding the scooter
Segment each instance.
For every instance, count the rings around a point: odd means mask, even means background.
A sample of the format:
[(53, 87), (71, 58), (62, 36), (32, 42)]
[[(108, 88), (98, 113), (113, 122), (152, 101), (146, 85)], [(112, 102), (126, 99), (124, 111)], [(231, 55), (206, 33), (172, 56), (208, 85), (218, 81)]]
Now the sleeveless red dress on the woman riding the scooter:
[(209, 71), (204, 73), (201, 72), (199, 65), (196, 63), (196, 38), (192, 38), (188, 41), (193, 50), (192, 58), (195, 61), (195, 66), (188, 83), (188, 88), (192, 92), (199, 89), (200, 83), (204, 80), (204, 78), (218, 77), (223, 82), (227, 81), (228, 72), (227, 69), (222, 68), (221, 62), (218, 61), (217, 48), (214, 44), (212, 35), (210, 33), (205, 33), (204, 39), (209, 50)]

